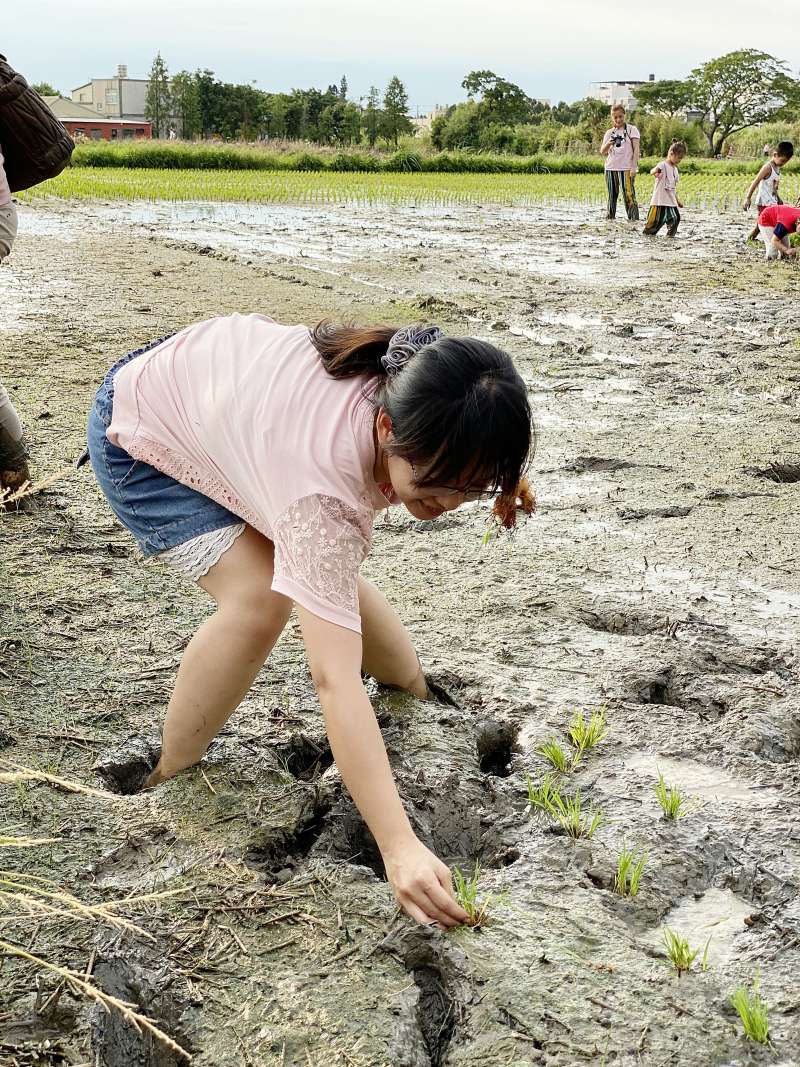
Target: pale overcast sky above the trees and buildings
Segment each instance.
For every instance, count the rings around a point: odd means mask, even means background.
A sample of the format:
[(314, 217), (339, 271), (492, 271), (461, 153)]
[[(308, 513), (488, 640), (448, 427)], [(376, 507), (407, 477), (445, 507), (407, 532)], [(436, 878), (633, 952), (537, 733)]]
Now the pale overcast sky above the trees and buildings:
[[(704, 60), (759, 48), (800, 65), (799, 0), (672, 0), (650, 16), (630, 0), (26, 0), (3, 20), (0, 51), (29, 81), (65, 95), (127, 63), (146, 77), (157, 50), (171, 73), (208, 67), (259, 89), (350, 96), (394, 74), (414, 108), (464, 98), (494, 70), (530, 95), (575, 100), (605, 79), (679, 78)], [(630, 17), (630, 12), (636, 17)]]

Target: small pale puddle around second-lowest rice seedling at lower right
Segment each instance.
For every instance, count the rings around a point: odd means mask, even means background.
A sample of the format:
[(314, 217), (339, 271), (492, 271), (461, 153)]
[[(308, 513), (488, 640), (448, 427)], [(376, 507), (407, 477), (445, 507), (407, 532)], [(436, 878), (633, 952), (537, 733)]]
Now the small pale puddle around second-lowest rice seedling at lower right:
[(644, 941), (661, 947), (661, 930), (668, 926), (686, 938), (691, 949), (700, 950), (695, 967), (702, 964), (704, 954), (709, 967), (718, 967), (736, 955), (736, 940), (747, 929), (745, 919), (752, 912), (753, 905), (730, 889), (708, 889), (701, 897), (687, 897), (672, 908)]

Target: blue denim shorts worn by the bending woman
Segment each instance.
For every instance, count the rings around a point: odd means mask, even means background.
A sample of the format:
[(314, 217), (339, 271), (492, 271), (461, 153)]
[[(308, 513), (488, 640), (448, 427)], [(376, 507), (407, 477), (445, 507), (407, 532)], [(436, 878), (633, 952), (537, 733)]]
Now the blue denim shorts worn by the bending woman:
[(124, 448), (112, 445), (106, 436), (114, 403), (114, 376), (126, 363), (166, 340), (145, 345), (123, 356), (109, 370), (97, 391), (89, 413), (87, 456), (95, 477), (116, 517), (137, 539), (145, 556), (174, 548), (201, 534), (241, 523), (233, 511), (223, 508), (204, 493), (181, 484), (149, 463), (134, 460)]

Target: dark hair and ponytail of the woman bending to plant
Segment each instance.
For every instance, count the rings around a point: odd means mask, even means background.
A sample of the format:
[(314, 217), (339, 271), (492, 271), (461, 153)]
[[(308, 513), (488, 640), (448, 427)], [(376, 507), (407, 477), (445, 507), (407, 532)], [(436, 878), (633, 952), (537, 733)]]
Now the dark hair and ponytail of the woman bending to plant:
[(310, 337), (333, 378), (373, 379), (365, 397), (391, 419), (388, 451), (423, 468), (417, 484), (516, 494), (534, 433), (511, 356), (476, 337), (443, 336), (389, 376), (381, 356), (396, 332), (323, 321)]

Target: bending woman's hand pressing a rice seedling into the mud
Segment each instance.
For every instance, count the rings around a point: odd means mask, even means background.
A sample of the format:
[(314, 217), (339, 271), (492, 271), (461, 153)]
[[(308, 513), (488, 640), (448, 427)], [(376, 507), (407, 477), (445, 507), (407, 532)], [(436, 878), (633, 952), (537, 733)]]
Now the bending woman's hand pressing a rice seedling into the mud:
[(383, 862), (398, 904), (412, 919), (443, 929), (467, 921), (453, 896), (450, 869), (414, 834), (387, 848)]

